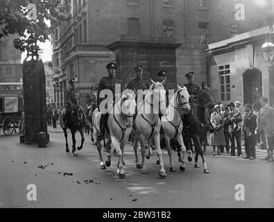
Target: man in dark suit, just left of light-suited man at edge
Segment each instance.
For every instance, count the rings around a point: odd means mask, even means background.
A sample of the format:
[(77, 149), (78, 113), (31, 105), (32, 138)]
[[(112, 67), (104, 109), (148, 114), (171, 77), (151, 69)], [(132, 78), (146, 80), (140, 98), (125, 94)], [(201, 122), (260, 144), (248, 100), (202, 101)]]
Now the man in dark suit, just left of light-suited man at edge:
[(245, 105), (245, 117), (243, 118), (243, 139), (246, 150), (246, 156), (243, 159), (256, 159), (255, 146), (256, 146), (256, 135), (255, 130), (257, 127), (257, 117), (252, 111), (252, 105)]

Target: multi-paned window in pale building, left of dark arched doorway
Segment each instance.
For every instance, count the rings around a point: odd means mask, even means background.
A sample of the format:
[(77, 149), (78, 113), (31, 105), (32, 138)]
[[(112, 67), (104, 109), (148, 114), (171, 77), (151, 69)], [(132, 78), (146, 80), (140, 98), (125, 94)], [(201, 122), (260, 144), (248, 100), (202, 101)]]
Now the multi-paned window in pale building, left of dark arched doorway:
[(221, 101), (231, 101), (230, 65), (219, 67)]

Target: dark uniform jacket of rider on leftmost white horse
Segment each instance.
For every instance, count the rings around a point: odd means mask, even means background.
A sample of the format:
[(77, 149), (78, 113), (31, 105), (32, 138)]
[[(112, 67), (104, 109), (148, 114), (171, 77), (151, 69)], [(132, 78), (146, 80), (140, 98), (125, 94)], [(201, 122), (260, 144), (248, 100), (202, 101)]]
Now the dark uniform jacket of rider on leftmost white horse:
[[(101, 78), (97, 92), (97, 107), (100, 107), (101, 101), (105, 98), (100, 98), (100, 92), (103, 89), (110, 89), (112, 91), (113, 101), (115, 100), (115, 85), (120, 85), (121, 93), (123, 92), (123, 84), (119, 78), (112, 78), (111, 76)], [(118, 92), (117, 92), (118, 93)]]

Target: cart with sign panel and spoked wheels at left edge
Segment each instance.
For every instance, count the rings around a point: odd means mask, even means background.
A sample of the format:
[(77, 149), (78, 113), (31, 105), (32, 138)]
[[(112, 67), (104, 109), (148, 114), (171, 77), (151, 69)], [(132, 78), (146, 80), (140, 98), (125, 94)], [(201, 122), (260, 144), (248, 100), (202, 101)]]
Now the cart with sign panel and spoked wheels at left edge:
[(16, 94), (0, 94), (0, 132), (10, 136), (22, 121), (23, 98)]

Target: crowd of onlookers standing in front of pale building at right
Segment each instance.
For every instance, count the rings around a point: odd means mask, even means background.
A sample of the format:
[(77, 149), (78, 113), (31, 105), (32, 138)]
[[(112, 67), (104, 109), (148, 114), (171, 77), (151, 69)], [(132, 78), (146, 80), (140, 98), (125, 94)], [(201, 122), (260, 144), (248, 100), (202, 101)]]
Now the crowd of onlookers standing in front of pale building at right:
[(242, 111), (239, 101), (215, 105), (210, 121), (214, 128), (209, 139), (209, 145), (213, 146), (213, 155), (221, 155), (226, 148), (227, 153), (235, 156), (237, 148), (237, 155), (243, 156), (243, 138), (246, 153), (244, 159), (255, 160), (256, 148), (261, 148), (268, 153), (263, 160), (273, 161), (274, 109), (268, 105), (266, 97), (259, 98), (252, 105), (243, 105)]

